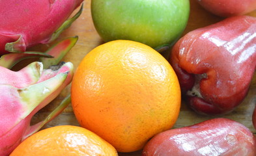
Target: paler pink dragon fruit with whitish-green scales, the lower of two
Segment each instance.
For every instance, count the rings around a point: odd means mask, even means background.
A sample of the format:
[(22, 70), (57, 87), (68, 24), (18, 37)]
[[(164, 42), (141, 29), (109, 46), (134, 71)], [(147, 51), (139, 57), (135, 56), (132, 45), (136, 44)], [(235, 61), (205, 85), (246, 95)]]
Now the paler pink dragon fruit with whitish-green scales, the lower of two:
[[(53, 120), (70, 103), (69, 95), (45, 120), (30, 126), (33, 115), (70, 83), (73, 75), (72, 63), (51, 65), (59, 64), (77, 40), (78, 36), (66, 38), (42, 54), (26, 51), (0, 57), (0, 112), (4, 116), (0, 120), (0, 155), (8, 155), (23, 139)], [(42, 58), (42, 55), (50, 58)], [(7, 69), (27, 57), (41, 58), (40, 62), (33, 62), (18, 72)], [(50, 69), (46, 69), (49, 67)]]

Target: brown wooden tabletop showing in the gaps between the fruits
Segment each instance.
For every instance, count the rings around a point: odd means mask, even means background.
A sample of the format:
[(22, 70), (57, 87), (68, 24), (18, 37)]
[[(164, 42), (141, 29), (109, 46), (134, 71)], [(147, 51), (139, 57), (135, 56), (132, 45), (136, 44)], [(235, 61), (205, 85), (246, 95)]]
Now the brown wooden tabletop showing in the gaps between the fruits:
[[(206, 25), (210, 25), (212, 23), (216, 23), (220, 21), (222, 18), (218, 16), (214, 16), (208, 12), (206, 12), (201, 6), (199, 6), (195, 0), (191, 0), (190, 7), (190, 19), (188, 21), (188, 26), (184, 31), (186, 34), (189, 31), (197, 29), (199, 27), (204, 27)], [(64, 57), (65, 62), (72, 62), (74, 67), (76, 68), (79, 62), (85, 57), (89, 51), (91, 51), (97, 45), (103, 44), (104, 42), (94, 29), (94, 25), (92, 23), (91, 18), (91, 10), (90, 10), (91, 1), (84, 1), (84, 9), (82, 15), (72, 24), (72, 26), (61, 34), (61, 36), (57, 39), (61, 40), (68, 36), (79, 36), (77, 44), (72, 48), (72, 50)], [(256, 17), (256, 11), (251, 12), (250, 16)], [(31, 49), (47, 49), (49, 45), (38, 45)], [(167, 58), (169, 53), (165, 52), (162, 55)], [(28, 61), (21, 62), (21, 64), (25, 65)], [(50, 105), (46, 106), (44, 109), (40, 110), (33, 118), (32, 123), (36, 123), (46, 117), (47, 114), (51, 110), (53, 110), (57, 105), (59, 105), (60, 101), (70, 92), (70, 85), (61, 92), (61, 94), (50, 103)], [(244, 100), (244, 102), (237, 107), (233, 112), (226, 114), (225, 118), (231, 118), (236, 120), (251, 129), (253, 133), (255, 133), (255, 129), (253, 128), (251, 122), (251, 115), (253, 113), (253, 109), (256, 103), (256, 76), (253, 78), (253, 81), (250, 86), (250, 90), (248, 96)], [(184, 102), (182, 102), (182, 107), (180, 110), (180, 114), (178, 120), (175, 124), (174, 128), (184, 127), (187, 125), (192, 125), (194, 123), (202, 122), (204, 120), (208, 120), (210, 118), (216, 118), (218, 116), (201, 116), (196, 114), (192, 110), (190, 110)], [(55, 120), (51, 121), (44, 128), (52, 127), (55, 125), (78, 125), (76, 118), (72, 112), (72, 106), (69, 105), (62, 114), (57, 116)], [(141, 151), (136, 151), (134, 153), (119, 153), (119, 155), (141, 155)]]

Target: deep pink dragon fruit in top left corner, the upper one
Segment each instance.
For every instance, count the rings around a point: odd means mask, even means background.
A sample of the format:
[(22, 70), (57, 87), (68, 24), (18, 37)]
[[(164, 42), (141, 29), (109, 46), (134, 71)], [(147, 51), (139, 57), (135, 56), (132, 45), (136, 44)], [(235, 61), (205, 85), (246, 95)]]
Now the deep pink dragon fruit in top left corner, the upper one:
[(1, 0), (0, 56), (50, 42), (83, 0)]

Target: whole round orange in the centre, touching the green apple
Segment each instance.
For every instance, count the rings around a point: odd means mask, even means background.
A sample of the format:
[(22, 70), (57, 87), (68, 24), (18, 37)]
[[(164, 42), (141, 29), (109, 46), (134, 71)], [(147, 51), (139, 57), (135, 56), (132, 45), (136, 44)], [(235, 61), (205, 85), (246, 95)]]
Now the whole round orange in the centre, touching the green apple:
[(170, 129), (180, 111), (180, 85), (167, 60), (151, 47), (115, 40), (92, 49), (71, 86), (78, 122), (117, 151), (142, 149)]

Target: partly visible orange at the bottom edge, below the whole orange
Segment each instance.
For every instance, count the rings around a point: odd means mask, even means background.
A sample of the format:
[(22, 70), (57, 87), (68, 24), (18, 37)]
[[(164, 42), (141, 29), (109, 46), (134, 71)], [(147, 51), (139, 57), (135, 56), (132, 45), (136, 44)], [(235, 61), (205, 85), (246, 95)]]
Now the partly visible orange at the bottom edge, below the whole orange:
[(112, 156), (117, 151), (91, 131), (74, 125), (59, 125), (38, 131), (14, 149), (10, 156)]

